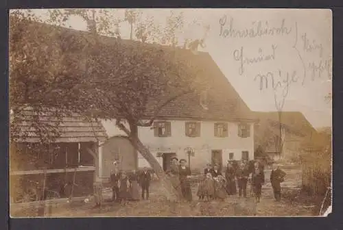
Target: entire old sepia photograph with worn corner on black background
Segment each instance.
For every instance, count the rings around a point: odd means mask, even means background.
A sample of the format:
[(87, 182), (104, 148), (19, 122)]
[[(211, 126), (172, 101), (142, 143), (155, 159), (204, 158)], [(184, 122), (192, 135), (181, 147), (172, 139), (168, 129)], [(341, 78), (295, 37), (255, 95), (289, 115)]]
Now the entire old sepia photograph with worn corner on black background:
[(12, 218), (328, 216), (332, 12), (12, 9)]

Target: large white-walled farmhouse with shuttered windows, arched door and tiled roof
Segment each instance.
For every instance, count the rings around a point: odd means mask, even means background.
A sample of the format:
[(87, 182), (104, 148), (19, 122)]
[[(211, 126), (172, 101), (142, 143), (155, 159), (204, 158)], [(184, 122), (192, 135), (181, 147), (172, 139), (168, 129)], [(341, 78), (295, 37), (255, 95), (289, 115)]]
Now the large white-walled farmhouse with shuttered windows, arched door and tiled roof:
[[(178, 47), (172, 49), (185, 59), (205, 66), (200, 77), (208, 84), (202, 92), (187, 94), (165, 105), (152, 127), (139, 127), (141, 142), (164, 170), (169, 168), (174, 156), (187, 159), (192, 170), (213, 163), (224, 166), (228, 159), (254, 159), (256, 120), (211, 55), (194, 54)], [(168, 97), (165, 94), (165, 98)], [(154, 114), (153, 108), (154, 103), (147, 107), (147, 120)], [(100, 177), (109, 176), (113, 159), (121, 162), (124, 170), (149, 166), (123, 137), (125, 133), (115, 126), (115, 120), (103, 120), (102, 124), (109, 140), (99, 149), (103, 159), (99, 166)]]

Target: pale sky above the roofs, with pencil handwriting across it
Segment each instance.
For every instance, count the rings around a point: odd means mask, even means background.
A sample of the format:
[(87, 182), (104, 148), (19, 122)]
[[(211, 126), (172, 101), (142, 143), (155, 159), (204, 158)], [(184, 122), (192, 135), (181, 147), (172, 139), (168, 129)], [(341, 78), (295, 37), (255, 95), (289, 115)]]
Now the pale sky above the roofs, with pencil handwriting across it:
[[(141, 9), (163, 27), (169, 9)], [(47, 18), (47, 10), (34, 10)], [(300, 111), (314, 127), (331, 127), (332, 15), (311, 9), (174, 9), (183, 12), (178, 35), (204, 38), (205, 47), (230, 84), (253, 111)], [(124, 10), (113, 10), (123, 16)], [(204, 26), (209, 25), (205, 33)], [(80, 16), (67, 27), (86, 29)], [(120, 25), (121, 38), (129, 26)], [(249, 31), (244, 36), (244, 31)], [(265, 78), (268, 77), (268, 85)], [(272, 82), (274, 79), (274, 85)]]

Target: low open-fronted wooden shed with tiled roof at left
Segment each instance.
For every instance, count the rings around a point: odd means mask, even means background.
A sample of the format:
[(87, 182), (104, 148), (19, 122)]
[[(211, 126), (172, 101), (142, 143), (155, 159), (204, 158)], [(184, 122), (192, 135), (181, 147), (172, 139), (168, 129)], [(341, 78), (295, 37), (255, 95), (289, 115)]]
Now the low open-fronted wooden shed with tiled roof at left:
[[(14, 116), (11, 124), (16, 131), (12, 131), (10, 142), (12, 203), (93, 193), (93, 182), (98, 177), (98, 146), (106, 140), (101, 123), (73, 112), (58, 118), (54, 110), (33, 107), (25, 107)], [(34, 127), (33, 119), (39, 127)], [(45, 133), (55, 135), (55, 140), (42, 144), (43, 137), (34, 131), (37, 128), (49, 129)]]

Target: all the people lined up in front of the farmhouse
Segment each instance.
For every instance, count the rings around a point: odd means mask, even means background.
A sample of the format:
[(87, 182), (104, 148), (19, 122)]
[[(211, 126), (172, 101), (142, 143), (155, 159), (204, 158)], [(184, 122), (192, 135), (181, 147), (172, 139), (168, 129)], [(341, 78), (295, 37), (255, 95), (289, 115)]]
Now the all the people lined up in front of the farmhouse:
[[(138, 201), (149, 199), (149, 188), (152, 175), (147, 168), (143, 168), (138, 173), (132, 170), (131, 173), (121, 172), (117, 163), (114, 162), (114, 169), (110, 174), (110, 183), (113, 190), (113, 201), (126, 202), (129, 200)], [(169, 170), (166, 171), (172, 186), (180, 195), (180, 199), (192, 201), (191, 192), (191, 169), (186, 166), (185, 159), (178, 160), (177, 157), (171, 159)], [(270, 181), (274, 191), (276, 201), (281, 200), (281, 185), (285, 177), (285, 172), (277, 167), (272, 170)], [(224, 175), (218, 164), (213, 167), (208, 164), (204, 169), (204, 175), (198, 185), (198, 198), (203, 199), (225, 199), (226, 196), (237, 194), (239, 197), (247, 196), (247, 185), (250, 181), (251, 192), (255, 196), (255, 201), (259, 203), (261, 199), (262, 185), (265, 182), (264, 166), (260, 162), (228, 162), (224, 170)], [(141, 187), (141, 194), (139, 193)]]

